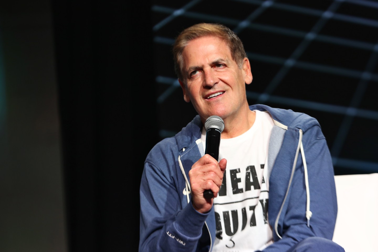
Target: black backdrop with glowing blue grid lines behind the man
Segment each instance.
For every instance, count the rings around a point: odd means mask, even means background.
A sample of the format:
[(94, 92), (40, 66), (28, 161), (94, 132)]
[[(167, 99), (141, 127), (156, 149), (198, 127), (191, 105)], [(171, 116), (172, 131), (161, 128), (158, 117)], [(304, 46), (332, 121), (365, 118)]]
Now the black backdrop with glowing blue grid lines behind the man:
[(175, 37), (195, 23), (222, 23), (251, 62), (249, 104), (318, 119), (336, 175), (378, 172), (378, 2), (156, 0), (151, 17), (160, 139), (197, 114), (174, 73)]

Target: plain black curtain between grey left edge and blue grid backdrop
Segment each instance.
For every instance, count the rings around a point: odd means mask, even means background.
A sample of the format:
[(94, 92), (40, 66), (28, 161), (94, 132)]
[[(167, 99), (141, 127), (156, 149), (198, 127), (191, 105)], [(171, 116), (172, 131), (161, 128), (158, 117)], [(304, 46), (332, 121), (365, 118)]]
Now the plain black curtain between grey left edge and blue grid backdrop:
[(70, 252), (138, 250), (158, 127), (150, 3), (133, 2), (51, 2)]

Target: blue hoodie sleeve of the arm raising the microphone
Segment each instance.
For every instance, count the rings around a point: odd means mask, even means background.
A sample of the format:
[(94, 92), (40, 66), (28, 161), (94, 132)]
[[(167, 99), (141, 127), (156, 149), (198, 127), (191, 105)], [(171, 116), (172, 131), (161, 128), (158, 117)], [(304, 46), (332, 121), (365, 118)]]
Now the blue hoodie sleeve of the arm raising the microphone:
[[(140, 186), (139, 252), (198, 251), (198, 240), (208, 214), (197, 212), (191, 203), (181, 207), (174, 168), (167, 158), (147, 161)], [(171, 166), (174, 166), (173, 163)]]

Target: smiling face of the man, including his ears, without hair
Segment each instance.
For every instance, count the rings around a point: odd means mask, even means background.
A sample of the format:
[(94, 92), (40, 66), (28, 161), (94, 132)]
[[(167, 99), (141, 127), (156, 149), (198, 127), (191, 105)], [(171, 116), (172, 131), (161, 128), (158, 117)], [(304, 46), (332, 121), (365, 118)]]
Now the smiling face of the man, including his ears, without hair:
[(243, 105), (248, 106), (245, 83), (252, 82), (249, 61), (245, 58), (240, 69), (223, 39), (191, 40), (184, 48), (183, 64), (180, 85), (184, 100), (192, 102), (203, 121), (212, 115), (223, 119), (236, 116)]

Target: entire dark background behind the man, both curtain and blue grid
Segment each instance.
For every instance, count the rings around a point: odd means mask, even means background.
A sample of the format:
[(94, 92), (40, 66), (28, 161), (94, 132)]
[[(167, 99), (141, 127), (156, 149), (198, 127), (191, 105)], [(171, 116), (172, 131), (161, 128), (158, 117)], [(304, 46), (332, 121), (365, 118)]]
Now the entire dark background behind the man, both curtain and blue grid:
[(0, 250), (137, 251), (150, 148), (194, 116), (171, 45), (223, 23), (251, 62), (250, 104), (316, 117), (335, 174), (378, 172), (378, 2), (0, 4)]

